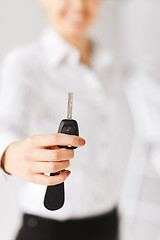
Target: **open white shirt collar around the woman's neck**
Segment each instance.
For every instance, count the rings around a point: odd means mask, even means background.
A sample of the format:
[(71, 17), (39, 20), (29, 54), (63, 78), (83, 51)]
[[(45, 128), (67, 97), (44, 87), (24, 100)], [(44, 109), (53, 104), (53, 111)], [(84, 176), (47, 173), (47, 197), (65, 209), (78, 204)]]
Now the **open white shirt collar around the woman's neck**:
[[(76, 65), (80, 62), (80, 52), (69, 44), (52, 27), (46, 28), (40, 42), (45, 50), (45, 57), (52, 66), (58, 66), (63, 62)], [(93, 42), (93, 52), (91, 56), (91, 68), (102, 70), (110, 67), (113, 62), (112, 54), (100, 44)]]

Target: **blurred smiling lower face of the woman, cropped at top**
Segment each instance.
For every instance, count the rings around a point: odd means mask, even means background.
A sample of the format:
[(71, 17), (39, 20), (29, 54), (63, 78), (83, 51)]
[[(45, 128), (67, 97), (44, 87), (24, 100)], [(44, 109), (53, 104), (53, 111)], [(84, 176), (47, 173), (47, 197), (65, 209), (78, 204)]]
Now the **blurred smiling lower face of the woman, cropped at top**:
[(51, 25), (62, 35), (82, 36), (95, 21), (101, 0), (40, 0)]

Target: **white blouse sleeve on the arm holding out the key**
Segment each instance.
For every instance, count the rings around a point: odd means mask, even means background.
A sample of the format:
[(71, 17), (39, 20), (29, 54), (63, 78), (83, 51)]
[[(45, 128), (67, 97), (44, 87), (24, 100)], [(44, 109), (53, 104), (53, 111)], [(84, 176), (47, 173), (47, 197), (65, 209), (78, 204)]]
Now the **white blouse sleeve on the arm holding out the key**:
[[(23, 56), (24, 55), (24, 56)], [(5, 149), (29, 134), (32, 93), (30, 71), (22, 51), (11, 52), (1, 67), (0, 89), (0, 160)], [(1, 161), (0, 161), (1, 166)], [(0, 178), (10, 177), (0, 167)]]

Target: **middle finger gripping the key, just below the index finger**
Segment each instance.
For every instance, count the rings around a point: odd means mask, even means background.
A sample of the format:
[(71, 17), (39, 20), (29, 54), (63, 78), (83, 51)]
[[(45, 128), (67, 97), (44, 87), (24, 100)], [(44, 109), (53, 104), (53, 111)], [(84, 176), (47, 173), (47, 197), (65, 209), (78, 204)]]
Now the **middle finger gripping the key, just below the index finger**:
[(63, 161), (66, 159), (72, 159), (74, 157), (74, 151), (71, 149), (58, 149), (58, 150), (42, 150), (37, 149), (32, 152), (28, 157), (30, 161), (37, 162), (55, 162), (55, 161)]

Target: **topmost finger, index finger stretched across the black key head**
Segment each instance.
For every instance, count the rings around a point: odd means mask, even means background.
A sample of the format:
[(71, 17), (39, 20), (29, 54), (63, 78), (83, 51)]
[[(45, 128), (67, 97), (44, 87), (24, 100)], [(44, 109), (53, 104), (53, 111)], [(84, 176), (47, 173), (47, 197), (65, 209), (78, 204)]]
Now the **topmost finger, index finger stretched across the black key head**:
[(29, 140), (39, 147), (53, 145), (81, 147), (85, 144), (83, 138), (63, 133), (33, 135), (29, 137)]

